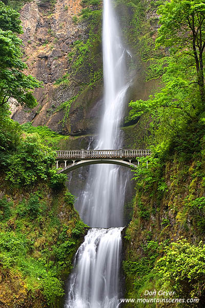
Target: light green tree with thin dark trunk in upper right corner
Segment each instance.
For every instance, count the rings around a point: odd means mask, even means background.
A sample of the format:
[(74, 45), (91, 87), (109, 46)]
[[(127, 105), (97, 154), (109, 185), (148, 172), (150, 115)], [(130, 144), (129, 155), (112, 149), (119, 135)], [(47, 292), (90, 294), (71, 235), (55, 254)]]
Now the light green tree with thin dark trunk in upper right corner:
[[(156, 39), (157, 46), (175, 47), (180, 54), (190, 55), (190, 65), (196, 67), (201, 101), (204, 93), (205, 1), (171, 0), (159, 7), (161, 25)], [(205, 107), (205, 106), (204, 106)]]

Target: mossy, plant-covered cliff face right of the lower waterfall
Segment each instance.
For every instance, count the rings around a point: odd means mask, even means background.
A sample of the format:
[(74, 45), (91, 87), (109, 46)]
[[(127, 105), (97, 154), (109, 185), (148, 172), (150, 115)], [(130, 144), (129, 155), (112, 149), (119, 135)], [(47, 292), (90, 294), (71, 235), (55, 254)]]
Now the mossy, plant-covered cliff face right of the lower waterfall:
[[(175, 153), (162, 159), (159, 165), (150, 167), (148, 173), (149, 178), (142, 177), (136, 183), (132, 221), (124, 237), (124, 297), (152, 298), (145, 296), (146, 290), (170, 290), (176, 292), (176, 298), (185, 301), (198, 298), (199, 304), (193, 303), (193, 307), (202, 307), (205, 233), (203, 149), (201, 153), (194, 153), (190, 160)], [(170, 307), (170, 304), (139, 302), (124, 306), (156, 308)], [(172, 303), (172, 307), (190, 307), (190, 303)]]

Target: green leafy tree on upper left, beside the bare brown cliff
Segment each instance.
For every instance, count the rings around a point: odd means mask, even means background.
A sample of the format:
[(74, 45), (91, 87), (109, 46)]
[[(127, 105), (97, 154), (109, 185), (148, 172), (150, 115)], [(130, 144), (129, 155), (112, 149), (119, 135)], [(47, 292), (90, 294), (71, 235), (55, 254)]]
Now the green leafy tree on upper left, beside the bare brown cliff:
[(27, 65), (22, 61), (22, 40), (17, 37), (20, 33), (19, 13), (0, 1), (0, 107), (10, 98), (30, 108), (37, 104), (32, 91), (40, 83), (24, 73)]

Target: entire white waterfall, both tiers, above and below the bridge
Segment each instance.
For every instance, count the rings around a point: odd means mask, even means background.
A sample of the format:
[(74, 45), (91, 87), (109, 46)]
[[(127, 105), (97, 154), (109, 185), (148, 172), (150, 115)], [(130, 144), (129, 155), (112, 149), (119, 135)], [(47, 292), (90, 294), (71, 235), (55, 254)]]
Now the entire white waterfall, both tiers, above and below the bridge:
[[(103, 63), (104, 110), (95, 148), (117, 149), (121, 147), (119, 126), (129, 82), (126, 49), (121, 43), (112, 0), (104, 0)], [(124, 168), (109, 164), (90, 167), (86, 189), (75, 207), (83, 221), (93, 228), (75, 255), (65, 308), (116, 308), (119, 305), (121, 230), (126, 191)]]

